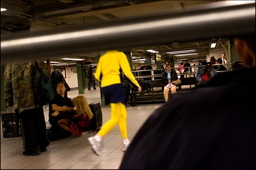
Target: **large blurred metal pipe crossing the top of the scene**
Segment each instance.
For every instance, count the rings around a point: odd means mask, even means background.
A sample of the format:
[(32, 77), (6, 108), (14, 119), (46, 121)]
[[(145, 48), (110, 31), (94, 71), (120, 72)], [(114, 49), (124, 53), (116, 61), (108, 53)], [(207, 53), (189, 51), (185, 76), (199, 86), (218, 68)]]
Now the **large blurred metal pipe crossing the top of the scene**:
[(255, 1), (1, 38), (1, 62), (255, 33)]

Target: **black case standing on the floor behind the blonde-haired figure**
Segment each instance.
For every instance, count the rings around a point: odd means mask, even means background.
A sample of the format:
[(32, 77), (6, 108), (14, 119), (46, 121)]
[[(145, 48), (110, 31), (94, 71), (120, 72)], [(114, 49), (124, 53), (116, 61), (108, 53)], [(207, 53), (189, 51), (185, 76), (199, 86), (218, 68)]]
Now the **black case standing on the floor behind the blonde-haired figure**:
[(102, 126), (102, 112), (100, 103), (90, 103), (89, 107), (93, 113), (91, 119), (91, 125), (89, 126), (90, 130), (99, 129)]

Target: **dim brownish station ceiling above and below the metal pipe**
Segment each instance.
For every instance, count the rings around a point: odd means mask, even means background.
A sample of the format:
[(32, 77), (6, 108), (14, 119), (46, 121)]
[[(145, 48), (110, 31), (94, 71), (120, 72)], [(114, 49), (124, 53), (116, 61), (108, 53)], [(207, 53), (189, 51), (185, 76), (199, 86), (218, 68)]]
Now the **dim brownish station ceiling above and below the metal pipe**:
[[(108, 21), (118, 22), (130, 17), (147, 16), (165, 11), (175, 12), (208, 3), (215, 5), (218, 1), (1, 1), (1, 8), (7, 6), (11, 9), (1, 12), (1, 37), (23, 32), (47, 32), (59, 27), (78, 25), (87, 27)], [(173, 57), (174, 61), (197, 60), (206, 58), (209, 53), (209, 41), (170, 42), (157, 46), (134, 47), (131, 52), (133, 57), (145, 58), (146, 50), (156, 50), (162, 55), (163, 62), (170, 57)], [(227, 46), (228, 38), (221, 38), (220, 41)], [(216, 48), (218, 45), (219, 43)], [(167, 53), (184, 49), (196, 49), (198, 55), (175, 57)], [(151, 55), (153, 57), (153, 53)], [(74, 52), (71, 56), (63, 57), (81, 58), (92, 64), (97, 62), (97, 52), (82, 54)], [(62, 61), (60, 57), (51, 58), (51, 60)]]

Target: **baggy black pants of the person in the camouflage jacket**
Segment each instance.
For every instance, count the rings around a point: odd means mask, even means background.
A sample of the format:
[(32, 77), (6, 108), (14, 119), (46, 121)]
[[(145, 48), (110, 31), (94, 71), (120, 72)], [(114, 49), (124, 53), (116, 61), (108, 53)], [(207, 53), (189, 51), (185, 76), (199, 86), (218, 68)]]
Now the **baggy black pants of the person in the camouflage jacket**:
[(21, 112), (24, 130), (25, 150), (38, 151), (38, 146), (49, 146), (43, 108), (38, 107)]

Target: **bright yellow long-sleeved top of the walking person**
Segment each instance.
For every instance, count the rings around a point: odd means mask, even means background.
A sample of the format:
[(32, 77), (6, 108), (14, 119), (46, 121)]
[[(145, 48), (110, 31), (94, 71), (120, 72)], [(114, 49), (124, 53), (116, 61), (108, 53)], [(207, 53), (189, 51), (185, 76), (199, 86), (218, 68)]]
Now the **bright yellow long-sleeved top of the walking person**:
[(120, 68), (133, 84), (139, 87), (134, 75), (131, 72), (129, 62), (126, 55), (117, 50), (107, 51), (100, 57), (95, 72), (95, 78), (101, 81), (101, 87), (108, 85), (120, 84)]

